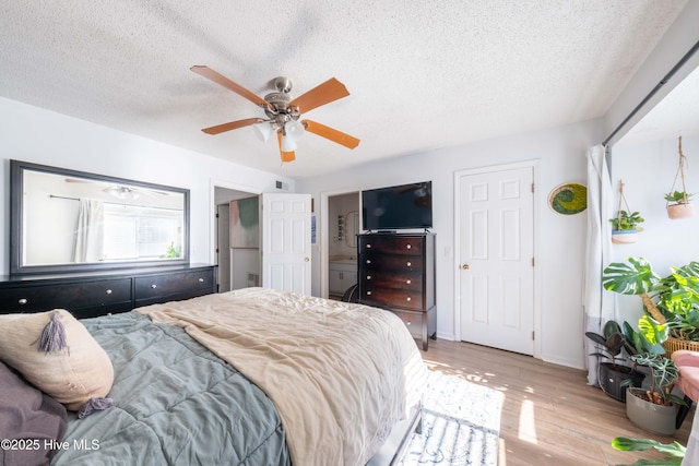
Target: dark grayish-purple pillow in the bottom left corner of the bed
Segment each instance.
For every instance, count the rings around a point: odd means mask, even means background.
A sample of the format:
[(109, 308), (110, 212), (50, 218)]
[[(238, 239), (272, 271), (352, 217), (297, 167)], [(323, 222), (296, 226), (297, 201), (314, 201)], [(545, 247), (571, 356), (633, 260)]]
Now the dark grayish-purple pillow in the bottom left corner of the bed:
[(68, 427), (66, 407), (2, 362), (0, 386), (0, 439), (16, 442), (0, 447), (0, 464), (48, 464), (51, 441), (60, 442)]

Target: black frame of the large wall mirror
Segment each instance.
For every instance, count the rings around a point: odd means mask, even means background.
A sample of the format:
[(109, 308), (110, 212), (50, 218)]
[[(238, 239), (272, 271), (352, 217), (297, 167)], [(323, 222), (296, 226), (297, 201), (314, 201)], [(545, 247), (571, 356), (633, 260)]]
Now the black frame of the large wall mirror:
[[(137, 188), (153, 189), (158, 191), (171, 191), (183, 195), (183, 220), (185, 231), (182, 235), (182, 259), (167, 259), (153, 261), (119, 261), (119, 262), (99, 262), (84, 264), (51, 264), (51, 265), (23, 265), (23, 244), (22, 238), (24, 234), (23, 216), (23, 195), (24, 170), (44, 171), (47, 174), (61, 175), (67, 177), (80, 177), (96, 181), (112, 182), (115, 184), (129, 184)], [(175, 265), (189, 265), (189, 224), (190, 224), (190, 194), (188, 189), (175, 188), (164, 184), (154, 184), (143, 181), (129, 180), (125, 178), (110, 177), (105, 175), (90, 174), (85, 171), (71, 170), (67, 168), (50, 167), (46, 165), (33, 164), (22, 160), (10, 160), (10, 275), (36, 275), (36, 274), (66, 274), (78, 272), (97, 272), (97, 271), (116, 271), (116, 270), (133, 270), (133, 268), (152, 268), (166, 267)]]

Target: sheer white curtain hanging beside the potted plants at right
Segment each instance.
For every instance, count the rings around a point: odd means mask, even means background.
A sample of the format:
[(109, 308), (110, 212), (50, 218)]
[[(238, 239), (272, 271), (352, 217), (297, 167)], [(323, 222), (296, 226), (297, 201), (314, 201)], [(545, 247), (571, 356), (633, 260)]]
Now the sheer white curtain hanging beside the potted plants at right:
[[(614, 193), (603, 145), (588, 151), (588, 238), (583, 284), (584, 332), (600, 333), (604, 323), (614, 318), (614, 302), (602, 289), (602, 271), (612, 255), (609, 218), (614, 210)], [(597, 358), (589, 356), (595, 345), (583, 335), (588, 383), (597, 384)]]

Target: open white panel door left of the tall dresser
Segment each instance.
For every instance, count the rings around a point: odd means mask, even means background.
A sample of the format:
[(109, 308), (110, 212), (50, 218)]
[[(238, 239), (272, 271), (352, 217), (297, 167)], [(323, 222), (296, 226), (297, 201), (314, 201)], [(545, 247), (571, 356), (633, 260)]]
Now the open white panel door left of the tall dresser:
[(262, 286), (310, 295), (310, 194), (261, 195)]

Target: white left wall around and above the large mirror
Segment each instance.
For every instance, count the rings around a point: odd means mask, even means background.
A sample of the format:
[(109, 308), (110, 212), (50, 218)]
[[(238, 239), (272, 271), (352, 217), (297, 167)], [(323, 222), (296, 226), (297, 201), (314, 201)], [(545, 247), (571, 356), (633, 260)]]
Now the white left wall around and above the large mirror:
[(273, 192), (294, 181), (199, 153), (0, 98), (0, 275), (9, 273), (10, 159), (190, 190), (190, 262), (213, 260), (212, 179)]

